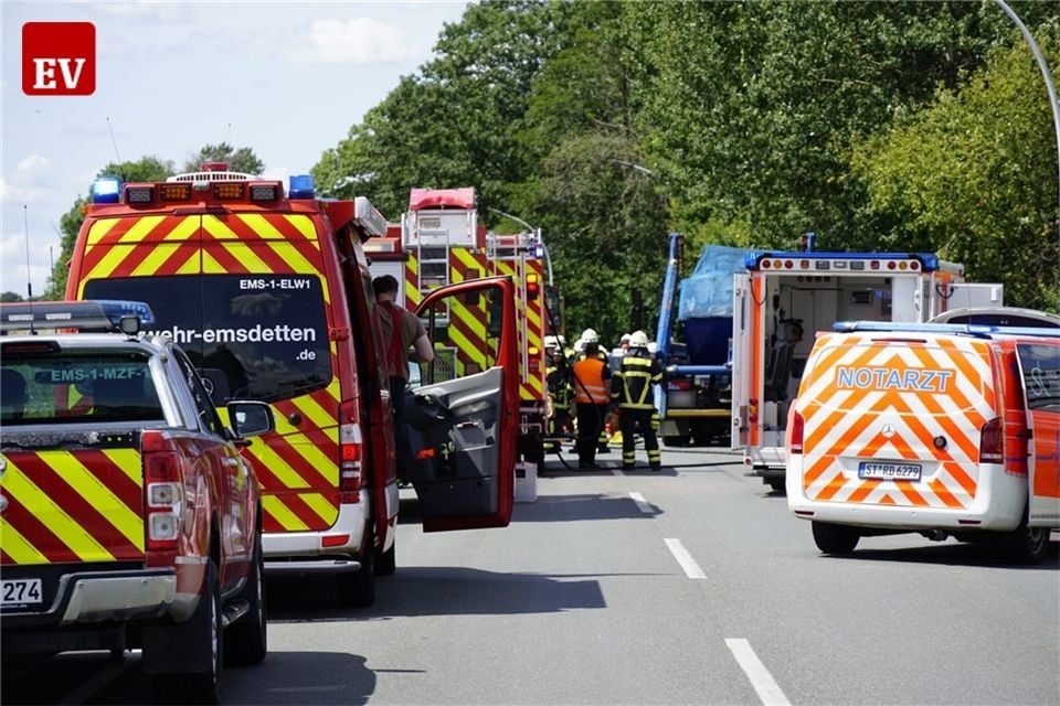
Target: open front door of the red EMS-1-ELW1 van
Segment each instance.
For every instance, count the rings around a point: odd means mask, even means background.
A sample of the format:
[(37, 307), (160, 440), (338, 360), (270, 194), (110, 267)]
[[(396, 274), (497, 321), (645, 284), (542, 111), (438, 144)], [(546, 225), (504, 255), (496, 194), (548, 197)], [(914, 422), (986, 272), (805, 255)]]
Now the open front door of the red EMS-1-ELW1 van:
[(504, 527), (511, 518), (519, 425), (515, 286), (507, 277), (433, 290), (416, 308), (434, 345), (405, 392), (399, 460), (424, 532)]

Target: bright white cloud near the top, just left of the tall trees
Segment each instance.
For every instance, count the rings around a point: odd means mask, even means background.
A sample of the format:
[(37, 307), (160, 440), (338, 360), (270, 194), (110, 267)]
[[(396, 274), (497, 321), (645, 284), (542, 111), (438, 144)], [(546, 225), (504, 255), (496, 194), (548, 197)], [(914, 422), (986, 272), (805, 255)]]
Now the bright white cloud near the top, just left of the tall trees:
[(315, 20), (287, 56), (298, 63), (377, 64), (415, 58), (404, 30), (371, 18)]

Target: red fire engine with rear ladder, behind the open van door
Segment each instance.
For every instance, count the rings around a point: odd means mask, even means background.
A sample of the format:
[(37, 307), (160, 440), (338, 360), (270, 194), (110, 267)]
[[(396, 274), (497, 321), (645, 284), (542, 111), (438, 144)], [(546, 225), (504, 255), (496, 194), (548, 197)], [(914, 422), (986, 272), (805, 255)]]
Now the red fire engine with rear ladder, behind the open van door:
[[(545, 279), (547, 250), (538, 232), (499, 235), (479, 220), (473, 188), (413, 189), (400, 227), (365, 244), (372, 274), (404, 282), (399, 303), (414, 306), (438, 287), (484, 277), (510, 277), (516, 287), (519, 454), (544, 460), (549, 405), (544, 335), (559, 329), (556, 289)], [(437, 366), (463, 370), (489, 345), (484, 312), (453, 321), (454, 345), (435, 351)]]

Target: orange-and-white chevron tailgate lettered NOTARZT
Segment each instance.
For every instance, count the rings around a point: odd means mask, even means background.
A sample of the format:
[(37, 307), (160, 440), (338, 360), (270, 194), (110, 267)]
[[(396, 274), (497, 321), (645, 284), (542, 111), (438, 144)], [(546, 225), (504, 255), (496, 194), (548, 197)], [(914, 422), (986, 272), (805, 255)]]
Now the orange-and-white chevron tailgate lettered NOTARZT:
[(806, 499), (969, 507), (982, 429), (996, 417), (987, 343), (849, 333), (820, 345), (796, 402)]

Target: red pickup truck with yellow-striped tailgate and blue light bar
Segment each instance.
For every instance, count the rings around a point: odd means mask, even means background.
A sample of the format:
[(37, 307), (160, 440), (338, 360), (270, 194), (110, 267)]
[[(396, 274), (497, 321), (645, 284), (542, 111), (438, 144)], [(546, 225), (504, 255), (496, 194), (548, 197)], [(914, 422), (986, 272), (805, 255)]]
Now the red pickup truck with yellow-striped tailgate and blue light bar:
[(216, 703), (222, 664), (267, 649), (240, 448), (273, 416), (233, 402), (225, 426), (184, 353), (139, 333), (150, 318), (134, 302), (0, 306), (2, 650), (141, 648), (156, 700)]

